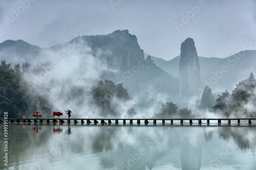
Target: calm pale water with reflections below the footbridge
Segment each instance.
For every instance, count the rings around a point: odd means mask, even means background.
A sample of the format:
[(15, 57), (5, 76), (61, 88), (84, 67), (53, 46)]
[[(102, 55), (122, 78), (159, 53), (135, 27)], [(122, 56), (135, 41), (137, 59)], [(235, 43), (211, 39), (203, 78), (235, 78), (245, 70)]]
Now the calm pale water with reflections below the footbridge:
[[(0, 169), (256, 169), (254, 124), (32, 123), (8, 129), (8, 168), (2, 144)], [(0, 130), (3, 134), (3, 124)]]

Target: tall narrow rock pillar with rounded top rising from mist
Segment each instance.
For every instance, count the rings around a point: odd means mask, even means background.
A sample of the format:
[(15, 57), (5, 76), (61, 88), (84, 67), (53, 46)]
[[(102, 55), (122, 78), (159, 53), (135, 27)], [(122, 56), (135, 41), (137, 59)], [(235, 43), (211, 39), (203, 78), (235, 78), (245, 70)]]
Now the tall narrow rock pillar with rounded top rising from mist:
[(200, 65), (195, 42), (187, 38), (181, 43), (179, 68), (179, 94), (181, 97), (197, 95), (201, 85)]

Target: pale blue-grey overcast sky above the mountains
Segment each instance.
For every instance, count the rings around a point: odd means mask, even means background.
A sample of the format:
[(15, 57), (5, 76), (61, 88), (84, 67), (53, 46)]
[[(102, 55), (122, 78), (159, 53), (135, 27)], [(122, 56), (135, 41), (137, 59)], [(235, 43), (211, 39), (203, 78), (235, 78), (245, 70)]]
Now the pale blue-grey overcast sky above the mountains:
[(225, 58), (256, 49), (254, 0), (30, 1), (0, 0), (0, 42), (22, 39), (49, 47), (78, 35), (127, 29), (145, 53), (165, 60), (180, 55), (188, 37), (202, 57)]

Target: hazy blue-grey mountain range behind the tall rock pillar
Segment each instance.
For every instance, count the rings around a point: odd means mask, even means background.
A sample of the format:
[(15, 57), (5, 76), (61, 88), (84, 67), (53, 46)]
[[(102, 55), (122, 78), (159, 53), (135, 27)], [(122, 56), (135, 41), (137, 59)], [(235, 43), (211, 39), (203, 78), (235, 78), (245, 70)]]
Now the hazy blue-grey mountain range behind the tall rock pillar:
[[(0, 43), (0, 59), (12, 64), (44, 63), (54, 56), (72, 56), (74, 51), (89, 54), (115, 71), (101, 72), (100, 79), (123, 83), (135, 95), (141, 91), (166, 93), (168, 99), (177, 99), (180, 56), (166, 61), (150, 56), (140, 48), (137, 37), (127, 30), (117, 30), (108, 35), (76, 37), (69, 42), (40, 48), (23, 40), (6, 40)], [(52, 53), (54, 52), (54, 55)], [(241, 54), (243, 54), (241, 56)], [(256, 51), (242, 51), (226, 58), (199, 57), (202, 87), (212, 91), (231, 90), (236, 83), (256, 70)], [(146, 89), (146, 90), (145, 90)], [(154, 90), (152, 90), (154, 89)]]

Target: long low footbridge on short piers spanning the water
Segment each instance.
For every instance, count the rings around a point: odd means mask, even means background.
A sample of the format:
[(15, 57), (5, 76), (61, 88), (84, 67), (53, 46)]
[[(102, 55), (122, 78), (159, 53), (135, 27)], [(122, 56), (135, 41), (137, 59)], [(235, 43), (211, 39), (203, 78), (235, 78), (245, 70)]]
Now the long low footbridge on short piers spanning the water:
[[(87, 123), (87, 124), (119, 124), (119, 123), (189, 123), (189, 124), (240, 124), (241, 120), (243, 123), (254, 124), (256, 123), (256, 118), (8, 118), (8, 123)], [(113, 121), (113, 122), (112, 122)], [(4, 118), (0, 118), (0, 123), (4, 122)]]

